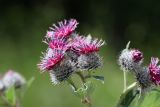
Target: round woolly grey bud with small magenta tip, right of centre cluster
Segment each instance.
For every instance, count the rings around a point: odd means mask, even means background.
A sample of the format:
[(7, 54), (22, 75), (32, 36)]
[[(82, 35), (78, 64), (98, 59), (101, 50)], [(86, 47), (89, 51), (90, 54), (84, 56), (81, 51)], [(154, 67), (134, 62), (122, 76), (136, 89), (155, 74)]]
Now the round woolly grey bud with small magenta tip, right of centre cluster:
[(122, 70), (134, 70), (142, 64), (143, 54), (136, 49), (124, 49), (119, 56), (118, 62)]

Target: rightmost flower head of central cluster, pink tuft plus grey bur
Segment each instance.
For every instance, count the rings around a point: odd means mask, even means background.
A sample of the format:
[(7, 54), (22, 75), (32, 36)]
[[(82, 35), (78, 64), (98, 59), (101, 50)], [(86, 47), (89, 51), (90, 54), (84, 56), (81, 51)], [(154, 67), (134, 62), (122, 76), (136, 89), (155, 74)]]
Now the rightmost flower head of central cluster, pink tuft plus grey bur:
[[(77, 68), (81, 71), (96, 69), (102, 65), (101, 58), (97, 54), (99, 48), (104, 45), (103, 40), (92, 39), (90, 35), (82, 37), (76, 35), (73, 39), (73, 43), (70, 45), (74, 54), (77, 54)], [(76, 56), (76, 55), (74, 55)]]

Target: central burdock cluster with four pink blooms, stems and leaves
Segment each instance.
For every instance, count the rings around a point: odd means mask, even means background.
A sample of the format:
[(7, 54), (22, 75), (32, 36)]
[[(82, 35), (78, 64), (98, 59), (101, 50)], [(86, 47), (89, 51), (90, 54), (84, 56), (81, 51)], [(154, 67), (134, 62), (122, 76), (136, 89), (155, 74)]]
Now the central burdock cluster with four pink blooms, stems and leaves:
[[(91, 35), (83, 36), (75, 32), (78, 22), (75, 19), (64, 20), (53, 24), (45, 36), (48, 48), (38, 67), (41, 72), (47, 71), (54, 85), (67, 81), (74, 94), (79, 96), (83, 103), (91, 106), (89, 93), (92, 83), (88, 78), (103, 80), (102, 76), (93, 75), (92, 70), (101, 67), (102, 58), (98, 51), (105, 44), (103, 40), (92, 38)], [(77, 87), (72, 76), (77, 74), (82, 87)]]

